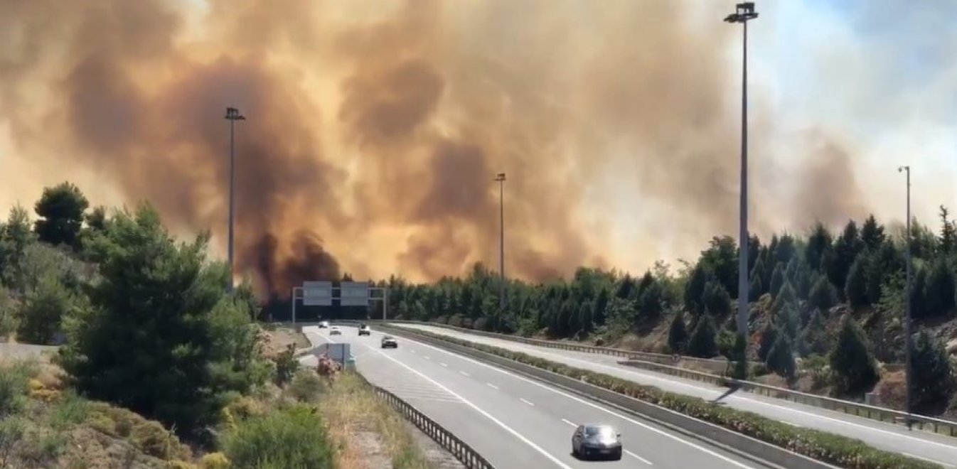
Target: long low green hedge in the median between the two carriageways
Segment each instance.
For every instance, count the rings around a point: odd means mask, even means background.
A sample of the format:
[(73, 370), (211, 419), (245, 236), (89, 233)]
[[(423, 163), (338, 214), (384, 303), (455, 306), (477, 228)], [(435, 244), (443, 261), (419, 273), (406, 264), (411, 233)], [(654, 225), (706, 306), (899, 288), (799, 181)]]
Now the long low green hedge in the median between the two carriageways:
[(685, 415), (722, 426), (728, 430), (760, 439), (794, 453), (849, 469), (939, 469), (940, 466), (896, 453), (881, 451), (863, 441), (817, 430), (792, 427), (757, 413), (726, 408), (698, 397), (661, 391), (632, 381), (586, 369), (576, 369), (542, 358), (514, 352), (497, 346), (486, 346), (469, 341), (416, 330), (436, 340), (468, 346), (498, 355), (525, 365), (580, 379), (586, 383), (619, 392)]

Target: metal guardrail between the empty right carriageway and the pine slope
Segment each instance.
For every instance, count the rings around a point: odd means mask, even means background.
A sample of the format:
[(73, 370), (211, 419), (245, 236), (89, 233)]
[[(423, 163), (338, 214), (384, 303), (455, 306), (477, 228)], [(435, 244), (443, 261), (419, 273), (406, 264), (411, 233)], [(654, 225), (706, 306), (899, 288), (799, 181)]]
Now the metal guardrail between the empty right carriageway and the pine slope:
[[(819, 408), (827, 409), (830, 411), (847, 413), (849, 415), (857, 415), (859, 417), (870, 418), (872, 420), (879, 420), (879, 421), (887, 422), (887, 423), (896, 423), (900, 425), (907, 424), (907, 418), (908, 418), (907, 413), (903, 413), (901, 411), (895, 411), (893, 409), (887, 409), (887, 408), (877, 407), (877, 406), (869, 406), (867, 404), (859, 404), (857, 402), (847, 401), (843, 399), (835, 399), (834, 397), (810, 394), (807, 392), (792, 391), (792, 390), (788, 390), (784, 388), (768, 386), (761, 383), (755, 383), (753, 381), (743, 381), (743, 380), (738, 380), (734, 378), (728, 378), (725, 376), (718, 376), (715, 374), (695, 371), (692, 369), (670, 367), (667, 365), (661, 365), (654, 362), (630, 360), (630, 361), (624, 361), (619, 363), (621, 365), (628, 365), (635, 368), (650, 369), (653, 371), (666, 373), (672, 376), (678, 376), (679, 378), (689, 379), (693, 381), (701, 381), (701, 382), (706, 382), (706, 383), (729, 387), (729, 388), (738, 388), (743, 391), (749, 391), (749, 392), (754, 392), (756, 394), (767, 395), (768, 397), (784, 399), (791, 402), (796, 402), (798, 404), (819, 407)], [(957, 436), (957, 422), (955, 421), (928, 417), (928, 416), (918, 415), (914, 413), (910, 414), (909, 418), (912, 424), (912, 428), (916, 428), (924, 432), (934, 433), (937, 435)]]

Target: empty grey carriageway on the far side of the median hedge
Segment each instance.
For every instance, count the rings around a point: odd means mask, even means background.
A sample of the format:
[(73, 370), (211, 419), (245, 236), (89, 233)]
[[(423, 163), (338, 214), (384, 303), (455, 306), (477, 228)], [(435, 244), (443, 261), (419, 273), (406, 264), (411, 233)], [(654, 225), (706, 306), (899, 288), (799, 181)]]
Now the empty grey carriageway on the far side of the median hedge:
[(544, 346), (530, 346), (504, 339), (484, 337), (426, 324), (392, 325), (426, 330), (435, 334), (456, 337), (477, 344), (499, 346), (501, 348), (521, 351), (529, 355), (545, 358), (546, 360), (564, 363), (571, 367), (608, 373), (634, 381), (635, 383), (655, 386), (664, 391), (698, 396), (708, 400), (719, 400), (729, 407), (760, 413), (796, 427), (813, 428), (837, 435), (854, 437), (880, 449), (928, 460), (946, 468), (957, 468), (957, 438), (938, 436), (917, 430), (909, 431), (901, 425), (879, 422), (869, 418), (829, 411), (750, 392), (738, 392), (726, 395), (728, 392), (727, 388), (684, 380), (654, 371), (618, 365), (617, 361), (620, 360), (620, 358), (609, 355), (575, 352)]

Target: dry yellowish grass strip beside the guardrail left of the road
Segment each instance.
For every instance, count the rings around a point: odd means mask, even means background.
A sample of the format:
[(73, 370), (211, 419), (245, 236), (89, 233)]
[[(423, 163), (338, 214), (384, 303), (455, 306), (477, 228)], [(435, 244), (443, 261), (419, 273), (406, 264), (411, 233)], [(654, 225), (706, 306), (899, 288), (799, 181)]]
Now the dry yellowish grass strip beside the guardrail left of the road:
[(358, 374), (345, 372), (322, 392), (320, 412), (338, 445), (343, 469), (431, 467), (399, 413)]

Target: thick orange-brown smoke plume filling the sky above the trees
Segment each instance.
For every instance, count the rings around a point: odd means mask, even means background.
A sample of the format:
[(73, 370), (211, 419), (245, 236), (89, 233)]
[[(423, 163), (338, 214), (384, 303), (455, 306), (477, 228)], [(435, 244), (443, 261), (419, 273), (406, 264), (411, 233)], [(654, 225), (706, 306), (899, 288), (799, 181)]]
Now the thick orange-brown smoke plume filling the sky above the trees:
[[(60, 178), (93, 168), (125, 200), (221, 239), (223, 114), (238, 107), (236, 252), (263, 293), (345, 271), (436, 279), (494, 265), (501, 171), (510, 275), (647, 265), (737, 220), (738, 63), (723, 51), (740, 35), (687, 8), (4, 0), (0, 122), (35, 165)], [(760, 148), (768, 123), (756, 127)], [(597, 184), (672, 216), (615, 245)], [(799, 212), (859, 214), (819, 212), (825, 202)], [(644, 251), (669, 230), (683, 251)]]

